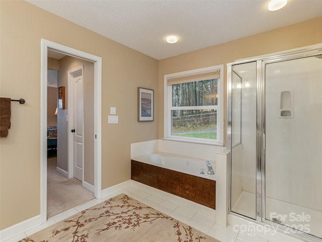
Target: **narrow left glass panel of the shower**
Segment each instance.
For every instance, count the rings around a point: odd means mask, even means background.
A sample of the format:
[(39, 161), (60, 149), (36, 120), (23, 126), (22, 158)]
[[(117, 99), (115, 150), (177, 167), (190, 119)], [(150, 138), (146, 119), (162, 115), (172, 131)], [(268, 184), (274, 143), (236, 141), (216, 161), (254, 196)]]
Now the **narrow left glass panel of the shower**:
[(233, 65), (230, 210), (256, 219), (256, 62)]

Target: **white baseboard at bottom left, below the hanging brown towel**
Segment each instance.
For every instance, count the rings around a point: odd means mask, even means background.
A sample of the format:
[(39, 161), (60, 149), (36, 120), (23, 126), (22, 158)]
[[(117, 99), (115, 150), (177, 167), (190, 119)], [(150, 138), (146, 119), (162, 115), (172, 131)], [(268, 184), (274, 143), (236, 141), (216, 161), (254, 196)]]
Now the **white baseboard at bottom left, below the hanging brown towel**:
[(37, 215), (33, 218), (29, 218), (25, 221), (17, 223), (9, 228), (5, 228), (0, 231), (1, 242), (5, 242), (10, 238), (16, 236), (22, 231), (27, 231), (41, 224), (41, 216)]

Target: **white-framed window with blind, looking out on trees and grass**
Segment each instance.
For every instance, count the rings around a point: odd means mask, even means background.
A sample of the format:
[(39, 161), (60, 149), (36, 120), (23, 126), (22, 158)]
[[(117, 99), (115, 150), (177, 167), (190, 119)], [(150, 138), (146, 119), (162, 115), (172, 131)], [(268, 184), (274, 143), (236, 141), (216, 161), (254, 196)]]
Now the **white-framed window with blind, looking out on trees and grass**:
[(223, 144), (223, 65), (165, 76), (165, 139)]

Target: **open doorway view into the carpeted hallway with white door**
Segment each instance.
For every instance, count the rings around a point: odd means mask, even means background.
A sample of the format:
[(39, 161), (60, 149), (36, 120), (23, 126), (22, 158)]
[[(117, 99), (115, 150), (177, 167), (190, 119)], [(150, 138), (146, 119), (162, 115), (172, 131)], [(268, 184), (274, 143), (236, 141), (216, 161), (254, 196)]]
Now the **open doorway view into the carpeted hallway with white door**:
[[(57, 69), (55, 87), (47, 88), (47, 136), (55, 132), (55, 139), (47, 137), (47, 218), (50, 218), (94, 198), (94, 63), (48, 49), (48, 68)], [(54, 82), (50, 73), (48, 71), (48, 86)], [(55, 95), (50, 95), (52, 91)], [(84, 99), (86, 105), (83, 105)], [(50, 112), (53, 105), (57, 115)], [(49, 119), (52, 117), (55, 120)], [(58, 143), (54, 154), (49, 141)], [(84, 151), (83, 144), (86, 145)], [(74, 162), (74, 166), (68, 168), (68, 162)]]

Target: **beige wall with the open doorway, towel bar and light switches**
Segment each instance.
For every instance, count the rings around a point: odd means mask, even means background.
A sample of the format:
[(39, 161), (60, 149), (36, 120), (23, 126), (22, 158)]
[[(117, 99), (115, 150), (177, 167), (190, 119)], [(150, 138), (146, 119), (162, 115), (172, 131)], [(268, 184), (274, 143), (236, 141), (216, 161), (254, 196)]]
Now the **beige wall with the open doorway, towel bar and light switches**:
[[(0, 139), (4, 229), (40, 214), (41, 38), (102, 57), (102, 189), (130, 179), (130, 143), (157, 138), (157, 120), (137, 122), (137, 87), (154, 89), (157, 100), (158, 62), (24, 1), (0, 1), (0, 11), (0, 96), (26, 100), (12, 104)], [(110, 106), (119, 124), (107, 124)]]

